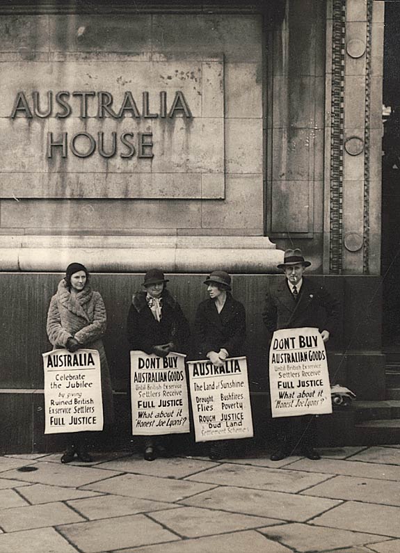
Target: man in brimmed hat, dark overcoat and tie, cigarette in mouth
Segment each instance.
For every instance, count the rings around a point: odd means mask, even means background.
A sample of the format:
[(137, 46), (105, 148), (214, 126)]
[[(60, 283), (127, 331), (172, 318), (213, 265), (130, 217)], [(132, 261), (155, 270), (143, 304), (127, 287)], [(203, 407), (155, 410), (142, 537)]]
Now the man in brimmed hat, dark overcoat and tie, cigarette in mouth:
[[(271, 284), (263, 313), (266, 328), (272, 334), (282, 328), (319, 328), (323, 342), (328, 342), (338, 321), (338, 303), (328, 291), (308, 280), (303, 273), (310, 266), (298, 248), (285, 251), (279, 269), (285, 278)], [(271, 460), (281, 460), (299, 447), (301, 454), (309, 459), (320, 458), (314, 449), (314, 415), (281, 417), (275, 419), (278, 426), (278, 449)]]

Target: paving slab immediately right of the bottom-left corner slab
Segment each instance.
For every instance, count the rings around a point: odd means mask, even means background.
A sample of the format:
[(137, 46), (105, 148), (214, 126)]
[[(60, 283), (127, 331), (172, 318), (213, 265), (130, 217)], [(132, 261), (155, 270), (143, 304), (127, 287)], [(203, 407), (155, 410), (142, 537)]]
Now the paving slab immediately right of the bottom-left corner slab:
[(98, 553), (179, 539), (147, 518), (130, 515), (60, 527), (61, 534), (83, 553)]

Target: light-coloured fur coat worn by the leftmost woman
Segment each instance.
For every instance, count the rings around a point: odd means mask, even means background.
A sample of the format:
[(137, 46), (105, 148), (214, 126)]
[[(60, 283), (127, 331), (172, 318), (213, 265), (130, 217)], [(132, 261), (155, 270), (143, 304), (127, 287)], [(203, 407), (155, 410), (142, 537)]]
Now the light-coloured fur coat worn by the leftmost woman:
[(106, 307), (99, 292), (86, 284), (77, 294), (71, 294), (65, 280), (58, 284), (47, 314), (47, 335), (54, 349), (65, 348), (74, 337), (83, 348), (95, 349), (100, 355), (104, 424), (113, 422), (113, 390), (109, 365), (102, 342), (106, 331)]

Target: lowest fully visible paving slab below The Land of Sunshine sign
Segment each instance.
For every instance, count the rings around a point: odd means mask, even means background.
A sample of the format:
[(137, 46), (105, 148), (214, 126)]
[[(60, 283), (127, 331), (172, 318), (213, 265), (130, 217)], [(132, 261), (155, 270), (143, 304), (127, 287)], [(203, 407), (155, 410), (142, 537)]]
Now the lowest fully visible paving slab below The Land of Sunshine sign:
[(239, 515), (198, 507), (157, 511), (157, 513), (151, 514), (151, 518), (184, 538), (212, 536), (213, 534), (225, 534), (225, 532), (234, 530), (259, 528), (264, 526), (264, 521), (266, 525), (276, 524), (276, 519)]

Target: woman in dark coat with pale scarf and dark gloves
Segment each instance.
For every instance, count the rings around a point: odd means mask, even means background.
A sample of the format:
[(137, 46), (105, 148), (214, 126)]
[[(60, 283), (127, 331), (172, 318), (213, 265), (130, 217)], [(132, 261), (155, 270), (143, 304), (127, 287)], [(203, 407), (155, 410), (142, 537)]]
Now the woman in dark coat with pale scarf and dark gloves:
[[(186, 353), (189, 323), (177, 300), (166, 288), (168, 279), (159, 269), (145, 274), (144, 291), (136, 292), (129, 307), (127, 339), (132, 350), (166, 357), (170, 351)], [(145, 436), (145, 460), (154, 460), (161, 436)]]

